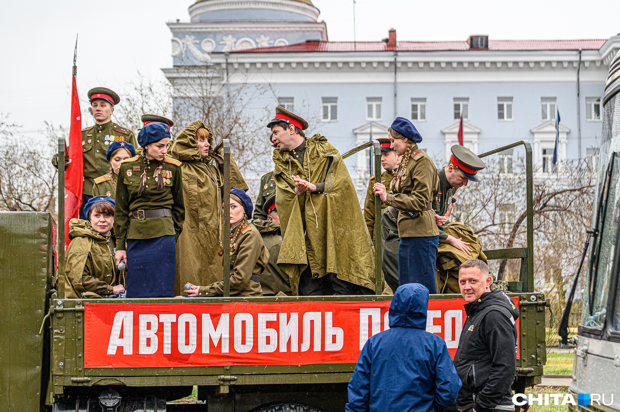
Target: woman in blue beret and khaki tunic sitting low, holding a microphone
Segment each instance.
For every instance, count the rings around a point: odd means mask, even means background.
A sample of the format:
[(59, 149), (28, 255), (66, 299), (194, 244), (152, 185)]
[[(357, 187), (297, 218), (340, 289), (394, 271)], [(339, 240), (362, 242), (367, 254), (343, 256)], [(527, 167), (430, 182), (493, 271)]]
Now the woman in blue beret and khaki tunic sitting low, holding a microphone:
[[(263, 296), (260, 275), (269, 263), (269, 252), (260, 233), (248, 223), (252, 216), (252, 200), (245, 191), (231, 190), (231, 243), (230, 243), (230, 291), (231, 296)], [(224, 281), (208, 286), (196, 286), (185, 291), (188, 296), (223, 296)]]

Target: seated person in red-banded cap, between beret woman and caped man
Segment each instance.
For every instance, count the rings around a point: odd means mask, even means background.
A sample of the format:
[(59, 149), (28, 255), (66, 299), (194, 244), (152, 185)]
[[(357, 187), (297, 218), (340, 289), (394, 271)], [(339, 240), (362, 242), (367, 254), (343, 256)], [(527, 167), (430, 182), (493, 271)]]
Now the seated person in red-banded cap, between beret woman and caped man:
[[(273, 189), (275, 191), (275, 188)], [(262, 212), (267, 216), (267, 220), (254, 219), (252, 225), (259, 230), (263, 243), (269, 252), (269, 263), (267, 269), (260, 275), (260, 287), (263, 296), (275, 296), (293, 294), (288, 275), (278, 267), (278, 256), (282, 247), (282, 234), (280, 230), (280, 217), (275, 208), (275, 193), (265, 199), (262, 205)], [(254, 210), (256, 213), (256, 210)]]

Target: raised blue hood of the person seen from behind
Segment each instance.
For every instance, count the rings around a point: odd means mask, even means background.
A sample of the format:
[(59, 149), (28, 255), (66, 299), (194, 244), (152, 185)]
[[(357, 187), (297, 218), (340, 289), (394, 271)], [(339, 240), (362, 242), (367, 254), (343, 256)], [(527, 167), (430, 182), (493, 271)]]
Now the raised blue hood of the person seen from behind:
[(399, 286), (389, 306), (389, 327), (426, 329), (428, 289), (420, 283)]

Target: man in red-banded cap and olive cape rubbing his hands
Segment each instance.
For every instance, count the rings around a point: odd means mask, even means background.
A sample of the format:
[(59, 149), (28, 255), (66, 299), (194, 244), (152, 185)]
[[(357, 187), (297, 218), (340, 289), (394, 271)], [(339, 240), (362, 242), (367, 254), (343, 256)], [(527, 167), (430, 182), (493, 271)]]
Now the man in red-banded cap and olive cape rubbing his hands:
[[(278, 106), (273, 133), (278, 267), (300, 295), (371, 294), (373, 243), (340, 153), (324, 136), (306, 138), (308, 122)], [(303, 251), (300, 253), (300, 251)]]

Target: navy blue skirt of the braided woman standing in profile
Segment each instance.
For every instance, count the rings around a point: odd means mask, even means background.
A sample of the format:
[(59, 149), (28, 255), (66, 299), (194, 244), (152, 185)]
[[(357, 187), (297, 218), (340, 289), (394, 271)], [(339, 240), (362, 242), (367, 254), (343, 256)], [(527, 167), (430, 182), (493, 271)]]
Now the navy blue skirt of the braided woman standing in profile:
[(437, 293), (435, 262), (439, 236), (401, 238), (398, 247), (398, 285), (420, 283), (428, 293)]

